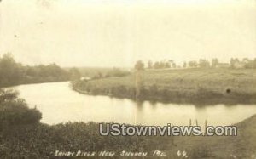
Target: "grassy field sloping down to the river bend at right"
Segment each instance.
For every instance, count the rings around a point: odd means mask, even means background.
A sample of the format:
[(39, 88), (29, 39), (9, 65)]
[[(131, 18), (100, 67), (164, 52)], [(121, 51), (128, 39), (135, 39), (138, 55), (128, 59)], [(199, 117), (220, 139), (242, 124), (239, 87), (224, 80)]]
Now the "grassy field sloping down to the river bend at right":
[(85, 94), (174, 103), (256, 103), (255, 69), (137, 71), (125, 77), (73, 82)]

